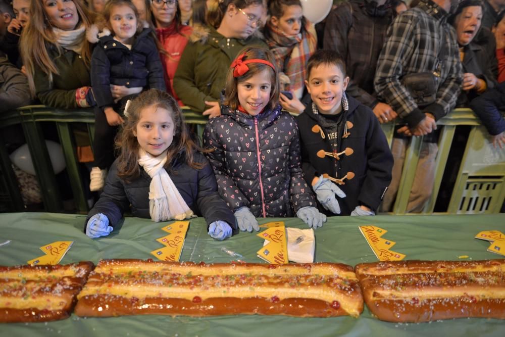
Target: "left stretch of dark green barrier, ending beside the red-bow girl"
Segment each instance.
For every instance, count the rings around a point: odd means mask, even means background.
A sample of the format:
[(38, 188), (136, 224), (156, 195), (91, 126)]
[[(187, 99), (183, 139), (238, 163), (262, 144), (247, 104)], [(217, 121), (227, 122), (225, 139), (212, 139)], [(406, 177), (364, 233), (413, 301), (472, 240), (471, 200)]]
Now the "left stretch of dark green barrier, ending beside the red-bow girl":
[[(203, 133), (203, 126), (208, 118), (196, 114), (189, 109), (183, 109), (186, 122), (196, 124), (198, 134)], [(37, 180), (42, 190), (42, 200), (45, 211), (63, 211), (62, 200), (56, 182), (55, 174), (51, 164), (51, 159), (45, 146), (44, 137), (40, 127), (41, 122), (55, 122), (58, 136), (67, 164), (70, 187), (74, 196), (74, 203), (78, 213), (87, 213), (88, 206), (85, 198), (84, 184), (79, 172), (77, 160), (77, 147), (74, 135), (72, 134), (73, 123), (85, 123), (88, 130), (90, 143), (94, 135), (94, 113), (92, 109), (52, 109), (45, 106), (27, 106), (19, 108), (0, 116), (0, 125), (8, 127), (14, 124), (21, 124), (25, 134), (26, 142), (32, 156), (33, 166), (37, 172)], [(5, 149), (5, 140), (2, 139), (0, 146), (0, 158), (2, 159), (1, 177), (4, 191), (0, 191), (0, 202), (9, 201), (7, 207), (10, 211), (22, 211), (24, 209), (16, 176), (12, 170), (11, 162)], [(0, 181), (1, 182), (1, 181)], [(5, 202), (4, 202), (5, 204)]]

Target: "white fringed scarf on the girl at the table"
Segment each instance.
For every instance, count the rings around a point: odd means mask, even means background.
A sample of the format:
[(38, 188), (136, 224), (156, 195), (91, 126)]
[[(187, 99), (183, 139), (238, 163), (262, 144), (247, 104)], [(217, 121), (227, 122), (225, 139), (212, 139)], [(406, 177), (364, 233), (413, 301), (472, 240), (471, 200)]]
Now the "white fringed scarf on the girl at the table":
[(193, 212), (182, 199), (164, 166), (167, 151), (153, 157), (142, 148), (138, 153), (138, 164), (152, 178), (149, 185), (149, 214), (155, 222), (184, 220), (193, 217)]

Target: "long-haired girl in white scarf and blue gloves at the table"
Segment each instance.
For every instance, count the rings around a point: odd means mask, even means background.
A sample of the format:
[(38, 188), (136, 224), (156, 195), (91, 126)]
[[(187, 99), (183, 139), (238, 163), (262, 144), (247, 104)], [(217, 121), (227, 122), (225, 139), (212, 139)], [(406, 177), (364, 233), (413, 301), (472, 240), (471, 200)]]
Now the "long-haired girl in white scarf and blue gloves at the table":
[(157, 89), (144, 91), (129, 101), (125, 116), (117, 138), (120, 155), (86, 218), (86, 235), (109, 235), (131, 205), (133, 216), (155, 222), (202, 215), (210, 236), (230, 237), (237, 229), (235, 217), (174, 98)]

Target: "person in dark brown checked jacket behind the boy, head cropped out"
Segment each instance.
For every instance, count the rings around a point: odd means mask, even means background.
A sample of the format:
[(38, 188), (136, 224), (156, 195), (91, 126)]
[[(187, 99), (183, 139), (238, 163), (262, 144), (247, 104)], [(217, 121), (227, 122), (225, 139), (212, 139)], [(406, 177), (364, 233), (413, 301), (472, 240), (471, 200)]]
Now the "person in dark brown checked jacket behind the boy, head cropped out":
[(324, 47), (337, 51), (350, 78), (346, 93), (373, 110), (380, 123), (396, 113), (379, 102), (373, 85), (377, 60), (387, 27), (393, 21), (391, 0), (350, 0), (330, 12), (325, 26)]

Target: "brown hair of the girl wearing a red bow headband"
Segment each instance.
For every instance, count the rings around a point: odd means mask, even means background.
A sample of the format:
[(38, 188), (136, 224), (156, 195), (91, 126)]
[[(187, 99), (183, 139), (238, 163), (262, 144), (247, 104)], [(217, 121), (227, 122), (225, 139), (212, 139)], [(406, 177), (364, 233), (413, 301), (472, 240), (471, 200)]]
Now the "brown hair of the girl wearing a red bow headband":
[(242, 55), (244, 53), (245, 56), (243, 58), (243, 61), (251, 59), (266, 60), (269, 61), (274, 66), (274, 68), (272, 69), (272, 67), (263, 63), (248, 63), (247, 67), (249, 67), (249, 70), (239, 77), (233, 76), (234, 68), (228, 69), (228, 74), (226, 75), (224, 104), (227, 105), (231, 110), (236, 110), (239, 105), (237, 85), (241, 82), (247, 81), (252, 76), (261, 73), (264, 70), (268, 70), (270, 73), (272, 88), (270, 91), (270, 100), (268, 102), (267, 108), (271, 110), (274, 109), (279, 103), (279, 76), (277, 67), (275, 65), (274, 56), (269, 50), (258, 47), (245, 47), (238, 53), (238, 55)]

